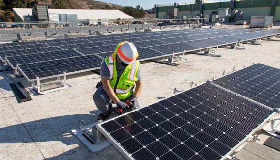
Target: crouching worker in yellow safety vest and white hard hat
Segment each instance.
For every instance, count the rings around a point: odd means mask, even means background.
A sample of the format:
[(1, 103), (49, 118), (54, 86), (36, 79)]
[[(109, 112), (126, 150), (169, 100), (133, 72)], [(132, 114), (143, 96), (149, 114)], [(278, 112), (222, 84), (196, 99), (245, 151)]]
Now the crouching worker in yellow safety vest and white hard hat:
[[(100, 86), (93, 100), (101, 113), (98, 120), (105, 120), (112, 113), (112, 102), (122, 110), (129, 108), (127, 100), (138, 108), (137, 98), (142, 90), (142, 76), (139, 69), (138, 52), (134, 44), (127, 41), (117, 45), (114, 53), (101, 63)], [(135, 91), (133, 92), (134, 85)]]

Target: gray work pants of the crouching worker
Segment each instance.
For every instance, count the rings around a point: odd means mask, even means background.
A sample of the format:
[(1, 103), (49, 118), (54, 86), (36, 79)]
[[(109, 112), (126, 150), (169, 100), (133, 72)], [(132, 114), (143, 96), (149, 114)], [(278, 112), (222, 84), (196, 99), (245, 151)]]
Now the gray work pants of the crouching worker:
[[(121, 101), (125, 102), (127, 100), (131, 100), (133, 98), (132, 96), (123, 99)], [(93, 101), (97, 107), (98, 110), (102, 112), (103, 115), (111, 114), (112, 112), (112, 100), (109, 98), (109, 96), (104, 91), (102, 85), (98, 87), (96, 92), (93, 94)]]

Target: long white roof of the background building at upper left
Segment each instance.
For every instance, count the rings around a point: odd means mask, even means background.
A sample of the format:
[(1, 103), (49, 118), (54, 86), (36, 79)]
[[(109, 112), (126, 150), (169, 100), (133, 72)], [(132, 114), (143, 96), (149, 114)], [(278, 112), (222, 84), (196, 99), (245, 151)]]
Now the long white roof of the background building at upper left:
[[(32, 15), (32, 8), (13, 8), (21, 19), (23, 16)], [(48, 9), (49, 14), (77, 14), (78, 20), (81, 19), (133, 19), (132, 16), (120, 10), (105, 9)]]

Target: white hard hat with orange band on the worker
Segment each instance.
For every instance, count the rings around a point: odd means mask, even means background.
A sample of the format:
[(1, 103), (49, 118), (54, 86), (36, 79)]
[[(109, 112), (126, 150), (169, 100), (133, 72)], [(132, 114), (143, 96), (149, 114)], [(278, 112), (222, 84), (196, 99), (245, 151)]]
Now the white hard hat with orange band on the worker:
[(139, 56), (133, 43), (123, 42), (118, 49), (118, 56), (125, 64), (133, 64)]

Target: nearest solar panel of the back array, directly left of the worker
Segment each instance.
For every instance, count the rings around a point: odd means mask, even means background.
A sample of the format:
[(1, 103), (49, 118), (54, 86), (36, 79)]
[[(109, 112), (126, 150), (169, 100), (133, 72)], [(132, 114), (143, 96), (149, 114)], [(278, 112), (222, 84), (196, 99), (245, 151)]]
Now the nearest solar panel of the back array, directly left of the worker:
[(58, 60), (18, 64), (17, 68), (29, 80), (40, 80), (67, 74), (90, 71), (100, 67), (102, 59), (96, 55), (85, 55)]

